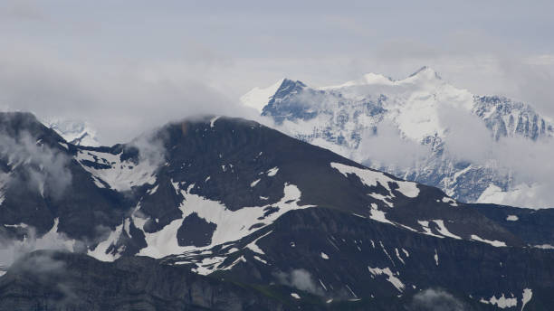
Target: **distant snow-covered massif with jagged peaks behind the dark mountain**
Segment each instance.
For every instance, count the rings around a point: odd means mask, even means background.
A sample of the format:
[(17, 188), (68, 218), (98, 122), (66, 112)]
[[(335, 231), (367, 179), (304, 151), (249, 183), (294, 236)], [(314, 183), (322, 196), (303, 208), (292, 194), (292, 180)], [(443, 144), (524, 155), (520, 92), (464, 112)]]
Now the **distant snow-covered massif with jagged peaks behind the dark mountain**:
[(551, 151), (552, 120), (527, 104), (456, 89), (430, 68), (404, 80), (369, 73), (323, 88), (285, 79), (276, 90), (255, 89), (244, 99), (245, 105), (263, 107), (261, 114), (292, 137), (439, 187), (456, 200), (552, 207), (549, 181), (528, 176), (524, 168), (514, 172), (517, 160), (498, 160), (533, 142)]

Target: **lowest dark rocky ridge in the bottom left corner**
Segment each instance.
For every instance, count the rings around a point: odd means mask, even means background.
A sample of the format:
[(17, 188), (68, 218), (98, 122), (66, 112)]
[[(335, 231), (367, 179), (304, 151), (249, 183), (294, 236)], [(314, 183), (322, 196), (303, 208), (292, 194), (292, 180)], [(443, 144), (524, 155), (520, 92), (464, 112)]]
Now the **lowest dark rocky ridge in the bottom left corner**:
[(36, 251), (0, 278), (0, 310), (284, 310), (275, 299), (154, 259)]

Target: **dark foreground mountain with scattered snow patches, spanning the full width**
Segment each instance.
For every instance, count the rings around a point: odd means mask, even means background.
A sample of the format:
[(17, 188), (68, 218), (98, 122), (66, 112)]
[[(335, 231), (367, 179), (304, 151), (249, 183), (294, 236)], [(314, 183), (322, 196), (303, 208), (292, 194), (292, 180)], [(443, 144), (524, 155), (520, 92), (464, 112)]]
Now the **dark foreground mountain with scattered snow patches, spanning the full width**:
[(2, 113), (0, 139), (0, 310), (554, 303), (554, 210), (456, 202), (240, 118), (92, 147)]

